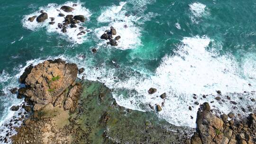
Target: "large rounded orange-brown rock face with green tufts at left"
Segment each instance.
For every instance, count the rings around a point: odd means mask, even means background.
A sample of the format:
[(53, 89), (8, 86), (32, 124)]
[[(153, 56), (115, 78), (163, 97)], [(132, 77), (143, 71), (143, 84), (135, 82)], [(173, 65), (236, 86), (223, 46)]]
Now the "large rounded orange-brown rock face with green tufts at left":
[(27, 75), (25, 84), (29, 89), (24, 95), (36, 103), (34, 110), (39, 110), (54, 103), (75, 82), (77, 72), (76, 64), (61, 59), (39, 63)]

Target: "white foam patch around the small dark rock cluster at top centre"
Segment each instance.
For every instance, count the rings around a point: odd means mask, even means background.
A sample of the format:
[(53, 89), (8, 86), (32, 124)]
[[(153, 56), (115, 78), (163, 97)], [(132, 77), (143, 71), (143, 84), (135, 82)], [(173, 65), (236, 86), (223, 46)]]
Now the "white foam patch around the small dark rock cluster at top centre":
[[(141, 45), (139, 27), (136, 27), (135, 22), (139, 20), (137, 16), (126, 16), (127, 10), (124, 8), (127, 2), (120, 2), (119, 6), (112, 6), (102, 10), (101, 16), (98, 18), (99, 23), (109, 23), (107, 27), (96, 28), (95, 32), (97, 37), (109, 30), (110, 27), (114, 27), (117, 30), (116, 36), (121, 36), (118, 40), (119, 49), (131, 49), (137, 45)], [(99, 45), (106, 45), (106, 40), (102, 40)]]

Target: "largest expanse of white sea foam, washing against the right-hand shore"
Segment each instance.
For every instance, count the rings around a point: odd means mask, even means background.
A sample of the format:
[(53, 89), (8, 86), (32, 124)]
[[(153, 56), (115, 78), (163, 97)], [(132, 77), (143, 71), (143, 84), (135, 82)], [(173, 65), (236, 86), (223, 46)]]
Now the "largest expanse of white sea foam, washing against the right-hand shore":
[[(166, 55), (155, 74), (151, 76), (133, 74), (134, 76), (123, 80), (115, 69), (107, 68), (105, 63), (99, 68), (86, 67), (84, 76), (85, 79), (101, 81), (114, 89), (113, 96), (121, 106), (148, 111), (150, 110), (148, 103), (161, 105), (165, 101), (163, 111), (157, 113), (159, 117), (176, 126), (195, 127), (199, 106), (193, 104), (195, 102), (192, 98), (193, 94), (215, 95), (216, 90), (221, 90), (223, 95), (229, 94), (232, 100), (238, 102), (238, 108), (252, 105), (249, 99), (256, 97), (245, 93), (244, 100), (239, 99), (243, 91), (256, 89), (255, 81), (249, 86), (250, 80), (243, 78), (248, 72), (241, 72), (239, 64), (231, 54), (219, 55), (216, 50), (208, 50), (210, 43), (215, 42), (207, 36), (184, 37), (181, 44), (177, 45), (175, 53)], [(157, 89), (153, 95), (147, 93), (151, 87)], [(127, 91), (128, 95), (123, 95), (123, 91)], [(164, 92), (167, 93), (165, 100), (158, 97)], [(233, 105), (228, 100), (217, 102), (214, 98), (208, 96), (206, 99), (196, 101), (199, 103), (215, 101), (210, 104), (212, 108), (216, 107), (225, 113), (232, 110)], [(192, 111), (188, 110), (189, 106), (193, 107)], [(241, 109), (236, 110), (236, 113), (242, 113)], [(194, 119), (190, 119), (190, 116)]]

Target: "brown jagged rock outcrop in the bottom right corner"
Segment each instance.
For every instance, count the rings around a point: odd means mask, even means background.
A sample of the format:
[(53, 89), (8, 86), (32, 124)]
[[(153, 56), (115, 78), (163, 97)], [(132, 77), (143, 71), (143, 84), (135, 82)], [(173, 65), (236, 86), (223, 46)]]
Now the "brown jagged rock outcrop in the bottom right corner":
[(256, 115), (250, 114), (245, 119), (235, 119), (234, 114), (214, 115), (210, 105), (203, 103), (196, 119), (196, 132), (191, 137), (191, 144), (255, 144)]

